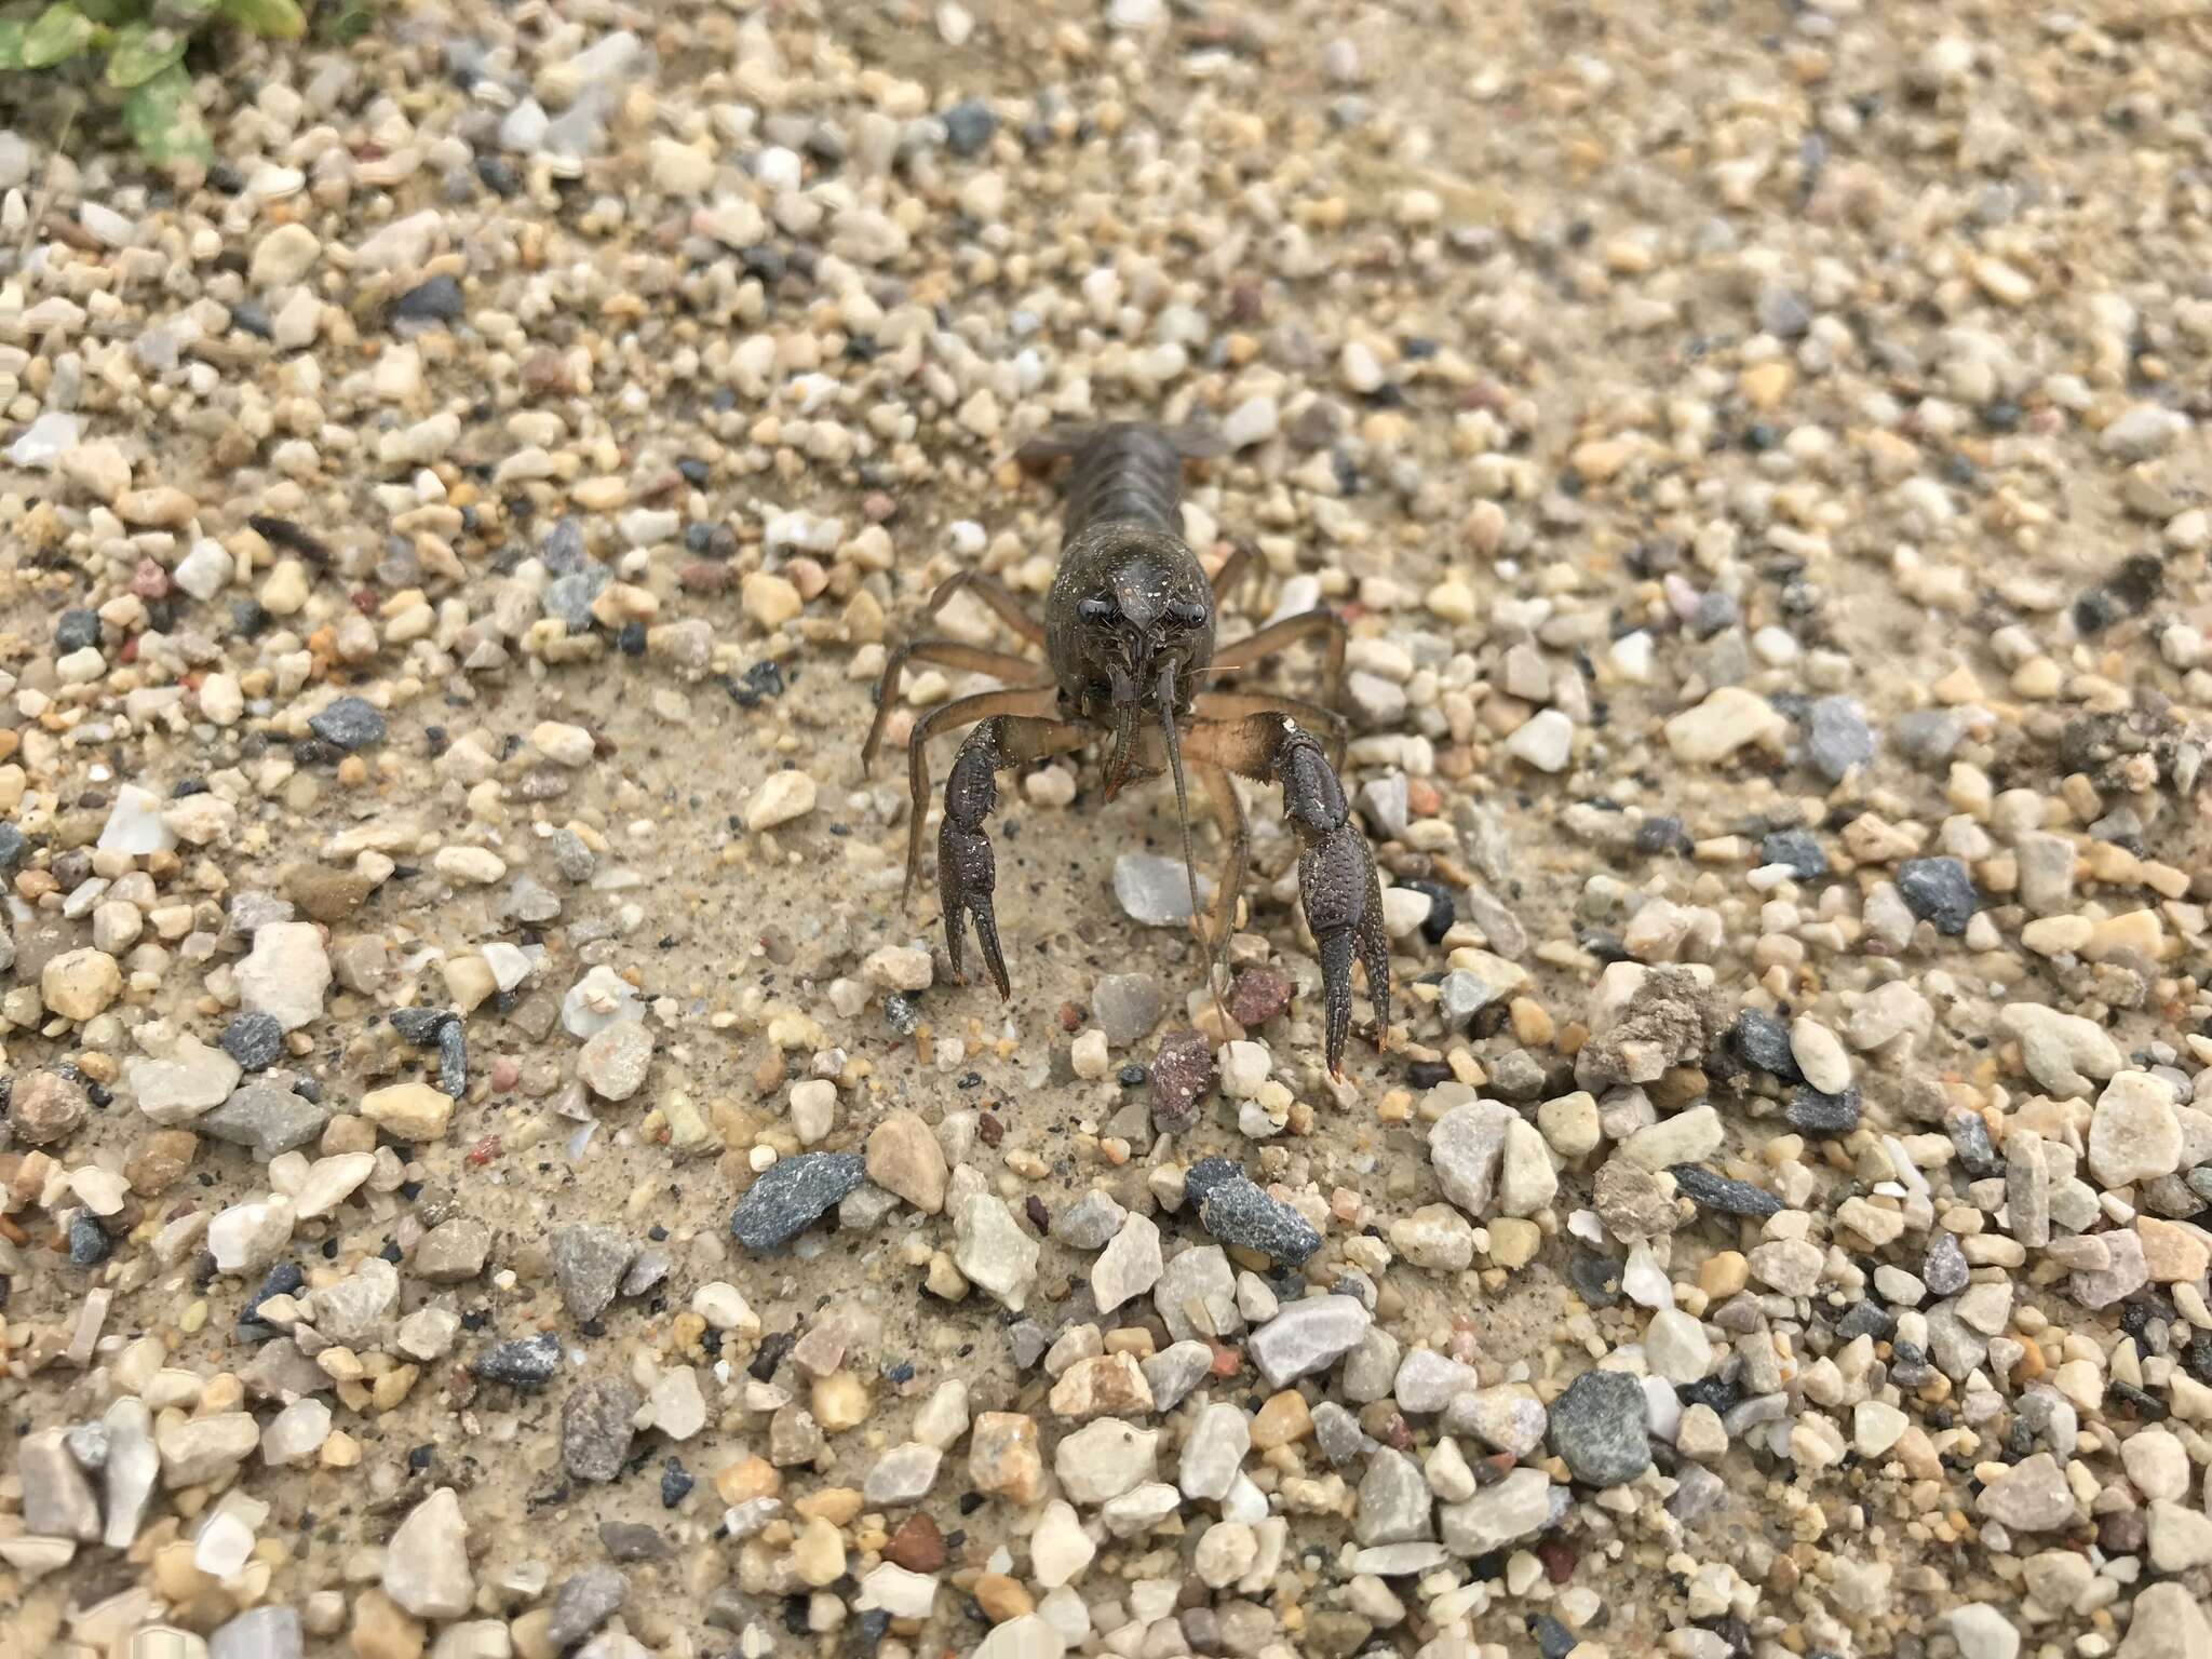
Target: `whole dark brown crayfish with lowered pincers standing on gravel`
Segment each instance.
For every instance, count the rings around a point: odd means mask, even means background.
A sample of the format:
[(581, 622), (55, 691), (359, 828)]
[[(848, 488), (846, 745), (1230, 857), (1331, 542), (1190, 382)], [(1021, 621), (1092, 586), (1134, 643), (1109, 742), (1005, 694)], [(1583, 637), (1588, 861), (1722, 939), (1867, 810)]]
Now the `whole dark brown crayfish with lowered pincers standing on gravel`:
[[(1183, 874), (1190, 911), (1208, 947), (1208, 973), (1219, 964), (1237, 916), (1250, 836), (1230, 774), (1283, 785), (1283, 816), (1298, 836), (1298, 894), (1305, 922), (1321, 947), (1327, 1004), (1325, 1055), (1329, 1075), (1343, 1075), (1345, 1035), (1352, 1029), (1352, 964), (1367, 971), (1374, 1037), (1389, 1029), (1389, 936), (1383, 931), (1383, 885), (1374, 852), (1352, 821), (1340, 761), (1345, 723), (1334, 712), (1345, 666), (1345, 624), (1334, 611), (1307, 611), (1267, 624), (1228, 646), (1214, 646), (1221, 599), (1237, 586), (1250, 555), (1232, 553), (1208, 582), (1183, 540), (1183, 462), (1219, 453), (1203, 434), (1141, 422), (1060, 427), (1022, 447), (1020, 460), (1068, 458), (1066, 518), (1060, 571), (1037, 622), (1002, 582), (962, 573), (929, 599), (936, 615), (962, 588), (995, 611), (1026, 644), (1044, 648), (1044, 664), (1011, 650), (984, 650), (956, 639), (911, 639), (891, 653), (883, 672), (876, 723), (860, 750), (874, 761), (883, 743), (900, 675), (909, 661), (995, 675), (1002, 690), (942, 703), (914, 723), (907, 776), (914, 814), (907, 836), (907, 891), (922, 867), (922, 821), (929, 810), (931, 737), (973, 726), (945, 783), (945, 821), (938, 827), (938, 896), (953, 971), (962, 971), (967, 929), (973, 920), (984, 969), (998, 993), (1011, 995), (1006, 958), (998, 940), (991, 894), (998, 865), (984, 823), (998, 805), (998, 774), (1051, 754), (1104, 748), (1106, 799), (1139, 776), (1168, 774), (1183, 832)], [(1261, 690), (1208, 686), (1219, 675), (1250, 668), (1298, 639), (1325, 650), (1323, 701)], [(1327, 748), (1325, 748), (1327, 745)], [(1206, 790), (1221, 823), (1228, 856), (1214, 889), (1212, 916), (1199, 916), (1199, 878), (1190, 860), (1190, 803), (1186, 770)]]

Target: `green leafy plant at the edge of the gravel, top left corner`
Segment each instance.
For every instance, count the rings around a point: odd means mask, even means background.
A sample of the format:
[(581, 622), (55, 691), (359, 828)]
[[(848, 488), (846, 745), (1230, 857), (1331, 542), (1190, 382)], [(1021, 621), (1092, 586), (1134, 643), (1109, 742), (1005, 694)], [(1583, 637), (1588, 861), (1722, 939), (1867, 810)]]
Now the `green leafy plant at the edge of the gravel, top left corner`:
[(299, 0), (49, 0), (0, 11), (0, 73), (82, 86), (117, 108), (148, 161), (208, 159), (184, 53), (226, 22), (270, 40), (307, 29)]

